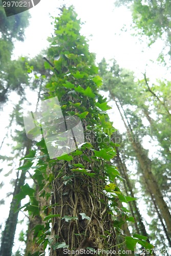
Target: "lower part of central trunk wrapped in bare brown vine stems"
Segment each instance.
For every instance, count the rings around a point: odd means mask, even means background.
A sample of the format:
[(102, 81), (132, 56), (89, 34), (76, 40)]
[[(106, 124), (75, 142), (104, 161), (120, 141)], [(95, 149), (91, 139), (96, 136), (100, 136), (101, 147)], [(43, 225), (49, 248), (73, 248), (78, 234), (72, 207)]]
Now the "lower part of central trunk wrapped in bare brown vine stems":
[[(92, 141), (95, 141), (93, 139), (95, 137), (92, 138)], [(93, 156), (92, 151), (87, 151), (86, 156)], [(77, 175), (71, 183), (65, 185), (62, 178), (57, 178), (60, 170), (62, 170), (63, 175), (72, 177), (74, 173), (71, 171), (71, 165), (77, 163), (82, 163), (88, 170), (98, 169), (98, 176), (101, 179)], [(117, 253), (117, 238), (113, 220), (108, 214), (108, 198), (103, 193), (105, 181), (102, 162), (99, 164), (93, 161), (88, 162), (79, 156), (70, 164), (63, 162), (61, 165), (56, 165), (53, 173), (55, 179), (51, 203), (57, 205), (53, 207), (52, 214), (63, 217), (62, 219), (54, 218), (52, 221), (52, 235), (57, 236), (54, 243), (65, 241), (71, 249), (75, 248), (78, 251), (86, 249), (86, 247), (93, 247), (94, 249), (115, 248)], [(90, 219), (83, 219), (80, 214), (86, 214)], [(77, 219), (73, 218), (73, 220), (67, 221), (65, 216), (76, 217)], [(56, 250), (52, 246), (51, 256), (59, 255), (66, 255), (63, 248)], [(112, 253), (109, 255), (112, 256)]]

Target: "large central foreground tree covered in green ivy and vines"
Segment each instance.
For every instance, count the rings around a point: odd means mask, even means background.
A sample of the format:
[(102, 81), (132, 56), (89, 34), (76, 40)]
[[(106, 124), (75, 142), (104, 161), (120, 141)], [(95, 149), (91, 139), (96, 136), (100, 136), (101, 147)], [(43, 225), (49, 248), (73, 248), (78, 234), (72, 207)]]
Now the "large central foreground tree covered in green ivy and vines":
[[(53, 62), (49, 94), (58, 97), (64, 116), (78, 115), (82, 119), (86, 142), (71, 153), (70, 160), (65, 161), (63, 156), (63, 160), (56, 160), (52, 167), (51, 204), (52, 215), (56, 217), (52, 218), (50, 254), (66, 255), (67, 247), (79, 252), (92, 247), (112, 248), (117, 255), (116, 232), (104, 191), (106, 168), (115, 150), (110, 145), (112, 142), (104, 143), (103, 138), (109, 138), (113, 127), (109, 117), (101, 113), (102, 106), (105, 110), (109, 108), (98, 94), (101, 80), (97, 76), (94, 55), (89, 53), (79, 29), (80, 22), (73, 9), (63, 9), (56, 19), (57, 36), (51, 39), (49, 49), (51, 61), (58, 56)], [(72, 126), (75, 125), (76, 122)], [(82, 255), (87, 255), (86, 250)]]

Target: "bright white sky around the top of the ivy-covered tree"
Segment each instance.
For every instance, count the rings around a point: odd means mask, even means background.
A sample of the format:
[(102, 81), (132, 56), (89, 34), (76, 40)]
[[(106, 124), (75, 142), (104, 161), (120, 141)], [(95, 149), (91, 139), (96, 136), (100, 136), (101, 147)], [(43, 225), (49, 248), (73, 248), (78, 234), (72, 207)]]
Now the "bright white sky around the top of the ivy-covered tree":
[[(63, 2), (57, 0), (41, 0), (36, 7), (30, 9), (32, 18), (29, 28), (26, 29), (26, 40), (16, 42), (14, 57), (20, 55), (34, 57), (48, 46), (47, 37), (53, 32), (50, 15), (58, 14), (56, 8), (60, 7), (61, 3)], [(126, 8), (116, 8), (114, 0), (72, 0), (68, 3), (74, 5), (78, 17), (85, 23), (82, 26), (82, 34), (90, 39), (90, 51), (96, 53), (97, 62), (103, 57), (106, 60), (115, 58), (120, 67), (133, 70), (138, 78), (141, 78), (141, 73), (145, 70), (153, 81), (156, 78), (170, 77), (166, 69), (159, 66), (156, 61), (162, 49), (162, 42), (158, 40), (149, 49), (145, 41), (141, 44), (138, 38), (131, 36), (131, 13)], [(127, 32), (121, 31), (124, 25)], [(14, 98), (11, 100), (14, 101)], [(5, 126), (8, 123), (6, 116), (5, 112), (4, 115), (1, 113), (0, 117), (0, 122)], [(120, 119), (115, 115), (114, 126), (118, 127), (119, 123)], [(5, 132), (2, 139), (4, 135)], [(7, 212), (4, 212), (4, 218), (6, 217)]]

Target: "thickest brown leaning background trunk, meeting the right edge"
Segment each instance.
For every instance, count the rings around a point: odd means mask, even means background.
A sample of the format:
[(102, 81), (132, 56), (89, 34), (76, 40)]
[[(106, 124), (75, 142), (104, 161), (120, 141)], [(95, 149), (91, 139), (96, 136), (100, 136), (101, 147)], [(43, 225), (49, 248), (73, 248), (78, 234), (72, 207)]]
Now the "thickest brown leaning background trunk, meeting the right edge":
[[(114, 97), (114, 100), (115, 100), (115, 97)], [(117, 105), (117, 108), (121, 115), (121, 118), (124, 122), (126, 131), (127, 131), (127, 135), (128, 135), (128, 137), (133, 145), (133, 148), (136, 152), (137, 160), (141, 166), (142, 174), (143, 174), (145, 183), (147, 185), (147, 189), (149, 191), (151, 191), (151, 193), (153, 194), (153, 196), (156, 200), (156, 204), (157, 204), (158, 208), (160, 209), (161, 216), (167, 226), (168, 236), (171, 237), (171, 215), (170, 215), (169, 209), (167, 207), (167, 204), (165, 203), (165, 201), (163, 199), (163, 195), (161, 194), (161, 191), (157, 184), (157, 181), (152, 173), (152, 161), (146, 156), (144, 149), (141, 146), (140, 142), (135, 139), (133, 131), (131, 129), (131, 126), (127, 125), (125, 123), (123, 115), (120, 111), (119, 105), (116, 100), (115, 100), (115, 103)]]

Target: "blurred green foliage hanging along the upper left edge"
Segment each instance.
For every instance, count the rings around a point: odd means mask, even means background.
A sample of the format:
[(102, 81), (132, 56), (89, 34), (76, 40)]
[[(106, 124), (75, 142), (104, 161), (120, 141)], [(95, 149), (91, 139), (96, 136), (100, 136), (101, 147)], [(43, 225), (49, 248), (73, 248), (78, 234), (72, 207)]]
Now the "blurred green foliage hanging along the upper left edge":
[(0, 103), (4, 103), (9, 92), (16, 91), (22, 95), (22, 84), (26, 84), (24, 59), (11, 60), (14, 43), (23, 41), (25, 29), (29, 25), (29, 12), (6, 17), (2, 2), (0, 3)]

